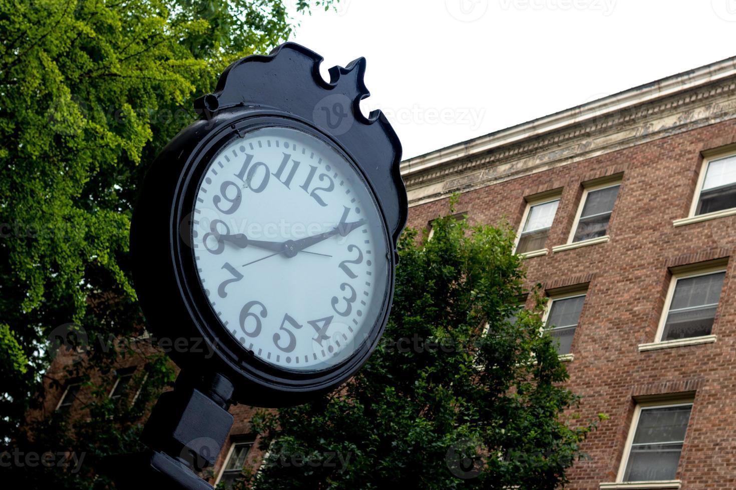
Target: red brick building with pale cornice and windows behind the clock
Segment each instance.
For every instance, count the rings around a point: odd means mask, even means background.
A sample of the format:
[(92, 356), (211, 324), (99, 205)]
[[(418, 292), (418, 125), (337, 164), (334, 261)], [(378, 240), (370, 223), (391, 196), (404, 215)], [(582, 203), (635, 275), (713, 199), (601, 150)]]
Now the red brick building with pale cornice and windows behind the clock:
[[(581, 415), (610, 417), (568, 488), (736, 488), (736, 58), (408, 159), (402, 173), (409, 226), (461, 192), (471, 221), (517, 228)], [(65, 408), (69, 389), (47, 409)], [(232, 411), (212, 483), (261, 457), (252, 408)]]

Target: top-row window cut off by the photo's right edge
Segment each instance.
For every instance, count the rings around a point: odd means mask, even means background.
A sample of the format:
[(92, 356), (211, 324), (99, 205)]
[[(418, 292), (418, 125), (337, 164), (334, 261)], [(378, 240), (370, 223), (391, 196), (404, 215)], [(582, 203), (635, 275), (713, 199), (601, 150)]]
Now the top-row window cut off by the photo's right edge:
[(736, 208), (736, 155), (704, 162), (704, 176), (693, 215)]

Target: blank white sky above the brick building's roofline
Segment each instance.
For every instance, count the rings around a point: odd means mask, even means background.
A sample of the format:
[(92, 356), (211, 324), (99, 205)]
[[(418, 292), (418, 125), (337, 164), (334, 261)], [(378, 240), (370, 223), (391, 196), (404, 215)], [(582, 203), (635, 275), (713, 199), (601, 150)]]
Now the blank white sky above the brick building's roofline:
[(341, 0), (291, 40), (367, 58), (408, 158), (736, 54), (736, 0)]

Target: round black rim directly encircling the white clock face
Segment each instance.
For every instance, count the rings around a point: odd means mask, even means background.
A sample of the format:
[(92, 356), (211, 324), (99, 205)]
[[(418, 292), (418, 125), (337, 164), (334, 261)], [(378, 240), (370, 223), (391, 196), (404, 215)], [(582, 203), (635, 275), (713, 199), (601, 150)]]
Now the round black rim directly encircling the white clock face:
[[(353, 167), (355, 174), (361, 179), (362, 184), (366, 187), (370, 198), (375, 203), (378, 210), (378, 218), (381, 220), (381, 231), (383, 241), (386, 245), (386, 258), (384, 267), (386, 267), (386, 284), (381, 299), (381, 310), (370, 328), (364, 327), (366, 338), (361, 342), (357, 349), (350, 353), (346, 359), (338, 364), (322, 370), (290, 370), (288, 367), (280, 367), (263, 361), (255, 353), (246, 349), (235, 337), (222, 325), (221, 320), (210, 304), (205, 295), (199, 275), (197, 274), (197, 263), (194, 259), (195, 249), (190, 243), (185, 243), (185, 238), (191, 240), (191, 225), (188, 225), (188, 234), (179, 229), (181, 223), (186, 223), (187, 216), (194, 216), (194, 204), (197, 199), (197, 192), (202, 185), (202, 179), (213, 162), (214, 157), (219, 151), (230, 143), (233, 138), (241, 136), (247, 132), (254, 131), (265, 127), (286, 127), (297, 131), (305, 132), (316, 140), (322, 141), (330, 148), (333, 148), (340, 154), (348, 165)], [(287, 115), (278, 111), (270, 113), (259, 113), (257, 115), (246, 114), (241, 117), (233, 118), (227, 125), (214, 129), (202, 140), (198, 151), (192, 154), (188, 159), (188, 163), (183, 169), (182, 181), (178, 186), (179, 192), (175, 199), (174, 220), (173, 223), (180, 223), (174, 230), (177, 246), (174, 247), (174, 269), (177, 270), (177, 283), (180, 284), (180, 293), (188, 310), (190, 311), (191, 320), (194, 327), (203, 336), (210, 339), (213, 345), (219, 346), (216, 349), (217, 355), (230, 368), (230, 372), (241, 373), (249, 381), (265, 384), (270, 387), (283, 390), (285, 392), (319, 392), (321, 389), (331, 389), (345, 379), (352, 376), (355, 371), (364, 364), (367, 357), (372, 353), (378, 344), (378, 340), (383, 334), (386, 321), (388, 319), (388, 311), (393, 295), (394, 284), (394, 243), (389, 236), (388, 227), (386, 226), (386, 215), (383, 206), (377, 198), (377, 194), (361, 165), (358, 165), (355, 158), (350, 155), (339, 141), (336, 141), (330, 135), (320, 131), (308, 121), (300, 120), (294, 115)], [(375, 257), (378, 259), (378, 257)], [(233, 380), (231, 380), (233, 381)]]

